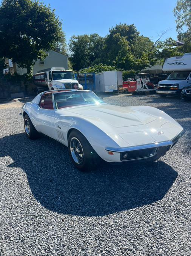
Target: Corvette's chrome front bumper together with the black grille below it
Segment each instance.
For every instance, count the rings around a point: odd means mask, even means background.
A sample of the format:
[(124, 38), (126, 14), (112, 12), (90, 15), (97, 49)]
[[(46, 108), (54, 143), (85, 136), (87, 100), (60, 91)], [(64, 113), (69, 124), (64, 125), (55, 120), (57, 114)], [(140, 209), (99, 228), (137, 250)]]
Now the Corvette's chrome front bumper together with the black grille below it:
[[(131, 146), (128, 148), (110, 148), (106, 147), (106, 151), (120, 153), (120, 161), (154, 161), (165, 155), (185, 133), (184, 130), (180, 132), (176, 137), (169, 141), (157, 142), (152, 144), (146, 144), (141, 146)], [(123, 155), (127, 154), (128, 157), (124, 158)]]

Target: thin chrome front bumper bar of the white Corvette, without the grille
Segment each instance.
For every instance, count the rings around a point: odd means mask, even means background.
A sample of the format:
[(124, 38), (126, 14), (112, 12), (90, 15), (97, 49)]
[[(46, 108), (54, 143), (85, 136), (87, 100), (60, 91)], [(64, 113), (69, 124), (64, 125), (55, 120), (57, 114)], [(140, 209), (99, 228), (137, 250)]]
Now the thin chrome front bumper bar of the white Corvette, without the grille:
[(126, 148), (110, 148), (106, 147), (106, 151), (111, 151), (111, 152), (126, 152), (126, 151), (134, 151), (134, 150), (139, 150), (139, 149), (148, 149), (148, 148), (159, 148), (159, 147), (165, 147), (165, 146), (173, 146), (174, 142), (176, 140), (179, 140), (180, 137), (185, 133), (185, 130), (182, 130), (178, 135), (176, 135), (172, 140), (168, 141), (163, 141), (163, 142), (156, 142), (152, 144), (145, 144), (145, 145), (140, 145), (140, 146), (130, 146)]

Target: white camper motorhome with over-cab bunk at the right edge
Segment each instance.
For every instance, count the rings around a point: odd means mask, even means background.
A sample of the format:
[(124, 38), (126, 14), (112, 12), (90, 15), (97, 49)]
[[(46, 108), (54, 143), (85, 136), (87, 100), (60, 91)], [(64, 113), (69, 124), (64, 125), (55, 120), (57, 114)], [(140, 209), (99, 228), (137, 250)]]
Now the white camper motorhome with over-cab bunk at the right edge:
[(191, 85), (191, 53), (167, 58), (162, 69), (163, 71), (172, 71), (172, 73), (167, 79), (158, 83), (156, 92), (161, 97), (180, 96), (182, 89)]

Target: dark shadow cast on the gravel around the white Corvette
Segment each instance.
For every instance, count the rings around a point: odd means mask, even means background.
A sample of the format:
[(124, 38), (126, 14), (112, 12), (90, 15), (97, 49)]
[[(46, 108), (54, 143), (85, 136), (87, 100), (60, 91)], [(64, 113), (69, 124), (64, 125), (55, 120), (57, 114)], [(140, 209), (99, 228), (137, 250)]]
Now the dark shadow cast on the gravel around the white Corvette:
[[(103, 216), (161, 200), (177, 172), (161, 160), (112, 166), (81, 173), (69, 160), (65, 146), (42, 137), (29, 140), (24, 133), (0, 139), (0, 157), (10, 156), (8, 167), (22, 168), (34, 198), (54, 212)], [(18, 181), (20, 182), (20, 181)]]

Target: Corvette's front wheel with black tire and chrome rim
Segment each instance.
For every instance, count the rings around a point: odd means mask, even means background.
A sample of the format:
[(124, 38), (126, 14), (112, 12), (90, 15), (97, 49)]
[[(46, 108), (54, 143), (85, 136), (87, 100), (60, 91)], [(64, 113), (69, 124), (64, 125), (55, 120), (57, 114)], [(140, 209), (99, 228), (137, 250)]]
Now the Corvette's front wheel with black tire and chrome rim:
[(73, 130), (69, 134), (68, 152), (73, 165), (80, 171), (91, 171), (100, 162), (99, 155), (83, 134), (77, 130)]

